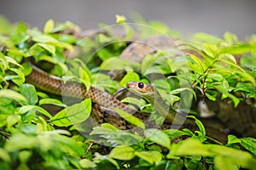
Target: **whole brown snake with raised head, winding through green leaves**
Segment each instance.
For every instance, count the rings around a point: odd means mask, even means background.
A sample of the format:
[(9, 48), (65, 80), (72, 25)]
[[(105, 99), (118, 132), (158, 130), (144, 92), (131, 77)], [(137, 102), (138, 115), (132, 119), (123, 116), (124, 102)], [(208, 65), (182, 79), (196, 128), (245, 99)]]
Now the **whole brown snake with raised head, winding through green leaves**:
[[(132, 62), (141, 63), (141, 61), (147, 54), (153, 54), (156, 50), (170, 48), (174, 46), (176, 47), (176, 44), (172, 41), (170, 37), (149, 37), (140, 42), (132, 42), (127, 48), (125, 48), (125, 50), (122, 54), (120, 54), (119, 57), (123, 59), (130, 59)], [(91, 112), (92, 116), (96, 117), (96, 121), (99, 123), (113, 123), (116, 127), (119, 127), (119, 129), (127, 129), (129, 127), (132, 127), (131, 124), (122, 119), (122, 117), (116, 118), (113, 115), (109, 116), (108, 114), (106, 114), (106, 111), (114, 112), (115, 109), (126, 111), (127, 113), (132, 114), (133, 116), (136, 116), (143, 121), (148, 119), (147, 114), (139, 113), (137, 110), (131, 108), (128, 105), (125, 105), (124, 103), (120, 102), (119, 99), (114, 98), (112, 95), (108, 94), (105, 91), (102, 91), (99, 88), (90, 87), (87, 90), (85, 85), (79, 82), (63, 82), (63, 79), (61, 79), (61, 77), (49, 75), (49, 73), (42, 71), (35, 65), (32, 65), (32, 72), (28, 76), (26, 76), (26, 82), (31, 83), (36, 88), (39, 88), (45, 92), (49, 92), (50, 94), (57, 94), (71, 98), (77, 98), (78, 96), (82, 99), (90, 98), (92, 103), (96, 104), (96, 106), (99, 106), (100, 109), (103, 110), (94, 110)], [(63, 87), (65, 88), (65, 90), (62, 89)], [(128, 82), (126, 84), (126, 88), (129, 88), (135, 94), (144, 94), (140, 90), (146, 90), (148, 94), (150, 94), (150, 97), (147, 97), (145, 95), (144, 97), (148, 99), (148, 101), (152, 104), (153, 100), (160, 101), (156, 103), (156, 105), (154, 104), (154, 107), (156, 107), (157, 110), (160, 110), (160, 108), (162, 108), (162, 99), (154, 99), (152, 97), (159, 97), (160, 95), (154, 95), (158, 93), (156, 89), (153, 88), (151, 85), (145, 84), (143, 82)], [(166, 116), (167, 123), (165, 123), (165, 125), (172, 122), (174, 116), (177, 114), (177, 111), (174, 111), (172, 109), (168, 110), (167, 113), (163, 110), (160, 110), (159, 112), (163, 113), (163, 116)], [(189, 124), (193, 123), (189, 121)], [(167, 125), (167, 127), (165, 128), (168, 127), (170, 126)], [(208, 132), (210, 132), (209, 136), (211, 136), (212, 138), (216, 138), (223, 143), (226, 141), (225, 133), (220, 132), (216, 129)]]

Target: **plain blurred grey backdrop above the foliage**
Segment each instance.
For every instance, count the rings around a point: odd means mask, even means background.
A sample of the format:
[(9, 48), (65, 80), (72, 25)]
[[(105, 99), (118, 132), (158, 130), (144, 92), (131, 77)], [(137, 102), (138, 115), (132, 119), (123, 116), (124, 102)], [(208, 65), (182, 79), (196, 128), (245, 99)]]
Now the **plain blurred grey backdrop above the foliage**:
[(0, 0), (0, 14), (12, 22), (44, 27), (46, 20), (71, 20), (82, 29), (114, 24), (115, 14), (141, 14), (160, 20), (183, 36), (207, 32), (221, 37), (232, 31), (241, 40), (256, 33), (255, 0)]

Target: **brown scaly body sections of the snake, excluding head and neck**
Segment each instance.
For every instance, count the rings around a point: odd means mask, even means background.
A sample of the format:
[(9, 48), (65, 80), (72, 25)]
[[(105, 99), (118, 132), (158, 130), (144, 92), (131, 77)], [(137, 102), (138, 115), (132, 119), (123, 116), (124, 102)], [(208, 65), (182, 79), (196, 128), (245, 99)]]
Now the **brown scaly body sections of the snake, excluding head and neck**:
[[(120, 55), (120, 58), (130, 59), (132, 62), (140, 63), (143, 57), (147, 54), (154, 53), (157, 49), (170, 48), (176, 46), (175, 43), (170, 39), (170, 37), (151, 37), (145, 39), (143, 42), (133, 42), (128, 48), (125, 48), (124, 52)], [(48, 73), (39, 70), (37, 67), (33, 66), (32, 73), (26, 77), (26, 82), (32, 83), (37, 88), (40, 88), (51, 94), (58, 94), (67, 97), (77, 98), (78, 96), (82, 99), (90, 98), (93, 103), (101, 106), (102, 108), (107, 108), (113, 110), (118, 108), (120, 110), (126, 111), (133, 116), (145, 120), (148, 118), (148, 115), (138, 113), (137, 111), (131, 109), (131, 107), (121, 103), (118, 99), (113, 98), (107, 92), (103, 92), (101, 89), (90, 87), (89, 91), (86, 91), (84, 85), (79, 82), (66, 82), (65, 90), (62, 90), (61, 87), (64, 84), (63, 80), (60, 77), (54, 77)], [(96, 117), (98, 122), (110, 122), (113, 123), (116, 127), (120, 129), (129, 128), (129, 123), (119, 118), (117, 120), (113, 116), (105, 117), (99, 111), (92, 111), (92, 116)], [(105, 119), (102, 121), (101, 119)], [(164, 125), (165, 127), (166, 125)], [(170, 126), (166, 126), (170, 127)], [(226, 135), (218, 130), (209, 130), (209, 136), (212, 138), (219, 139), (222, 142), (225, 142)]]

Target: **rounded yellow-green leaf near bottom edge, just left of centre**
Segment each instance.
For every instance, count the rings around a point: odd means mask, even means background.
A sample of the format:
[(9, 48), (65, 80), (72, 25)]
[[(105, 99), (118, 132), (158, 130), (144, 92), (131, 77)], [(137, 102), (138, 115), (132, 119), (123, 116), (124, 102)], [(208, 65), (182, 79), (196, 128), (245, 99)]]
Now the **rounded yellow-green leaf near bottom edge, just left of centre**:
[(135, 150), (130, 146), (120, 145), (114, 147), (108, 156), (118, 160), (131, 160), (135, 156)]

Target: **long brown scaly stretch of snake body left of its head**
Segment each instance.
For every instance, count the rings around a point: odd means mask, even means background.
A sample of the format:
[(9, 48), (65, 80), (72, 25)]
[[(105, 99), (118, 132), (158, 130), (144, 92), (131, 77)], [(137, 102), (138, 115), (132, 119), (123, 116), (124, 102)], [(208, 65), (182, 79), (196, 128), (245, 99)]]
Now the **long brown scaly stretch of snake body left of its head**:
[(51, 94), (63, 95), (71, 98), (90, 98), (93, 103), (101, 105), (104, 108), (118, 108), (128, 113), (136, 112), (99, 88), (90, 87), (89, 91), (87, 91), (86, 87), (79, 82), (64, 83), (60, 77), (49, 75), (38, 69), (35, 65), (32, 65), (32, 72), (26, 77), (26, 82), (32, 83), (37, 88)]

